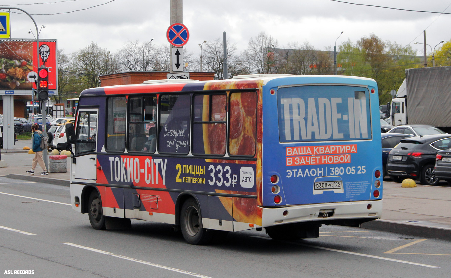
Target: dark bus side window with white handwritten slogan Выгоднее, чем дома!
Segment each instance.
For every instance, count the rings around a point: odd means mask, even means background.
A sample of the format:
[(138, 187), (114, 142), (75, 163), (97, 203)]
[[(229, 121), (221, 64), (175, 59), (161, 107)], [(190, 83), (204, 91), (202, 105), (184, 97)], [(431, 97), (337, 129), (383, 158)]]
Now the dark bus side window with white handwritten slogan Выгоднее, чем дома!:
[(191, 97), (188, 94), (161, 95), (160, 107), (158, 152), (188, 154), (191, 130)]

